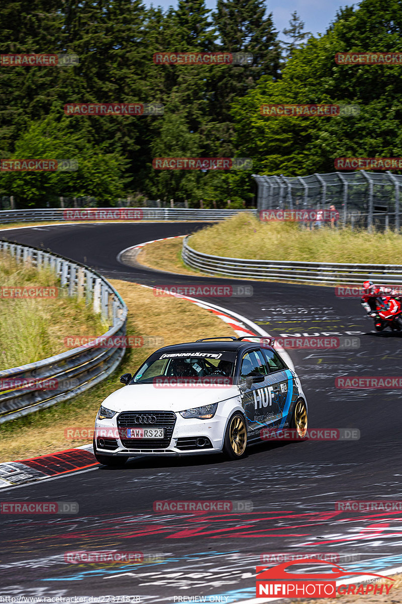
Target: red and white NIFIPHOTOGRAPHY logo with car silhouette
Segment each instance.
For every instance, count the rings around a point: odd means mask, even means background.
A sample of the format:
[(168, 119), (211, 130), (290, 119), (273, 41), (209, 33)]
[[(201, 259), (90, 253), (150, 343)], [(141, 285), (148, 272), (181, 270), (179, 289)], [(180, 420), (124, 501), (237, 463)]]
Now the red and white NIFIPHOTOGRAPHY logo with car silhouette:
[[(300, 573), (297, 570), (287, 571), (288, 567), (294, 565), (306, 565), (317, 567), (321, 565), (322, 573)], [(356, 583), (348, 579), (348, 576), (356, 576)], [(341, 577), (344, 577), (342, 582)], [(333, 562), (325, 562), (313, 558), (304, 558), (283, 562), (274, 567), (258, 566), (256, 581), (256, 597), (292, 597), (292, 598), (334, 598), (337, 595), (362, 595), (389, 594), (391, 585), (386, 583), (362, 583), (367, 577), (378, 577), (380, 580), (394, 581), (382, 574), (367, 573), (362, 570), (359, 573), (345, 570)], [(337, 585), (338, 579), (338, 585)], [(359, 585), (360, 583), (360, 585)]]

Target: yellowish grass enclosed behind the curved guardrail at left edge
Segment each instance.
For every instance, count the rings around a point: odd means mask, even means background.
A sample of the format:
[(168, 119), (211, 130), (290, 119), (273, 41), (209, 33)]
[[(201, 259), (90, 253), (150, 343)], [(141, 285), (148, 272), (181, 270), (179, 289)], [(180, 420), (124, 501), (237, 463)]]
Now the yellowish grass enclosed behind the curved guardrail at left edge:
[[(96, 336), (108, 327), (84, 301), (68, 298), (58, 288), (56, 275), (45, 269), (16, 263), (9, 254), (0, 256), (0, 283), (3, 287), (51, 286), (56, 298), (0, 297), (1, 368), (17, 367), (57, 355), (68, 347), (64, 336)], [(72, 327), (74, 326), (74, 327)]]

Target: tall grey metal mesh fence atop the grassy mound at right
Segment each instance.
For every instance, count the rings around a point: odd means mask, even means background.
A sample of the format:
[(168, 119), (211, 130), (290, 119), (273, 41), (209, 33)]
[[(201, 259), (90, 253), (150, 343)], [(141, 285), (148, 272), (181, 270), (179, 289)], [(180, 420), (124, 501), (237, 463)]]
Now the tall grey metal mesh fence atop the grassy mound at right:
[(303, 208), (339, 211), (342, 225), (400, 229), (402, 175), (391, 172), (332, 172), (309, 176), (260, 176), (257, 209)]

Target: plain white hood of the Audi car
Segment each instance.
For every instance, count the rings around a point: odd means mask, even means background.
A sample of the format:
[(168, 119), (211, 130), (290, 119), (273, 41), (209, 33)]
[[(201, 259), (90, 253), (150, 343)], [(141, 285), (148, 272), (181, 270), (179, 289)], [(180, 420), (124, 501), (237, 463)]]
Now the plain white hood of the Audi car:
[(184, 411), (239, 396), (238, 386), (213, 388), (155, 388), (153, 384), (132, 384), (110, 394), (102, 405), (112, 411)]

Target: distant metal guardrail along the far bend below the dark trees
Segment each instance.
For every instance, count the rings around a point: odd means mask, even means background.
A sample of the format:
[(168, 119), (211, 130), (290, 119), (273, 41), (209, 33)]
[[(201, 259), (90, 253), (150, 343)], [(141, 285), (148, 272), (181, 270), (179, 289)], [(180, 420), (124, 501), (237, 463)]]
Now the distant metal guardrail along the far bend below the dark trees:
[[(201, 210), (198, 208), (69, 208), (74, 213), (88, 216), (86, 220), (124, 220), (125, 213), (137, 210), (137, 220), (224, 220), (242, 212), (252, 212), (257, 216), (257, 210)], [(102, 214), (104, 212), (104, 214)], [(94, 217), (90, 214), (94, 213)], [(98, 216), (98, 217), (96, 217)], [(84, 218), (83, 218), (84, 219)], [(10, 222), (37, 222), (42, 220), (58, 220), (74, 222), (68, 208), (43, 208), (39, 210), (0, 210), (0, 225)], [(130, 220), (130, 218), (127, 218)]]

